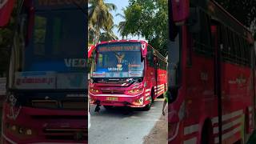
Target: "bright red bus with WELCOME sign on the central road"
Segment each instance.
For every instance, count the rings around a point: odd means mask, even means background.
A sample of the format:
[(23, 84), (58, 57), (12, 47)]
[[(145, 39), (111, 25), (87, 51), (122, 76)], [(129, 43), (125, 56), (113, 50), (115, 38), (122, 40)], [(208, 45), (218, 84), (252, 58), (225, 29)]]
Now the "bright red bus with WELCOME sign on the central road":
[(166, 58), (147, 42), (115, 40), (93, 48), (91, 104), (150, 110), (154, 99), (166, 91)]

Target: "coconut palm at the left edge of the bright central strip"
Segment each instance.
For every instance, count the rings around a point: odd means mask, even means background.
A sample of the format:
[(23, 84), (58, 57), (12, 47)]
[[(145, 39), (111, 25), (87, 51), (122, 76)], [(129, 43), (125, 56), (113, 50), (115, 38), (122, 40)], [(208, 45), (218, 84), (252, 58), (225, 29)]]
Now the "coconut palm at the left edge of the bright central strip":
[(105, 3), (104, 0), (89, 0), (88, 23), (94, 26), (94, 43), (99, 41), (100, 30), (103, 28), (110, 29), (114, 25), (111, 10), (116, 10), (117, 6), (113, 3)]

